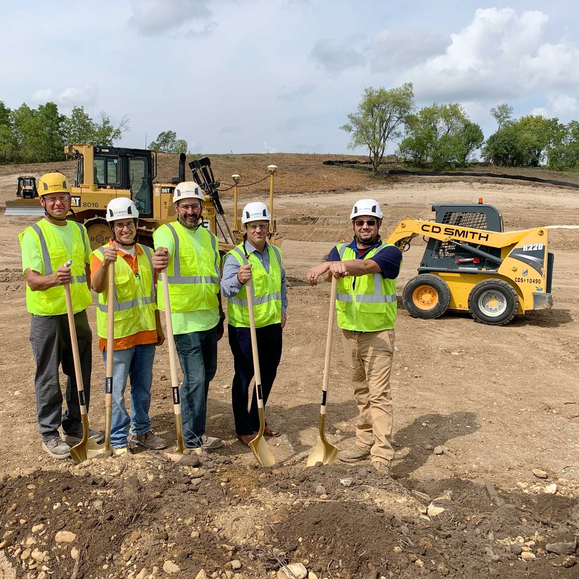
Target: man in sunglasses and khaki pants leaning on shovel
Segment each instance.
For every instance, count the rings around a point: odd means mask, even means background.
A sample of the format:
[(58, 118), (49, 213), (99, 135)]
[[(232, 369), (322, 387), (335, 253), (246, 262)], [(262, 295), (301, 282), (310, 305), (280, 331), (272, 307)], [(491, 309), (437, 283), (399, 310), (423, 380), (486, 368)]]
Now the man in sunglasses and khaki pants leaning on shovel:
[(394, 458), (390, 372), (402, 253), (380, 239), (382, 210), (375, 199), (357, 201), (350, 219), (353, 241), (336, 245), (327, 261), (307, 272), (307, 282), (316, 285), (323, 275), (338, 278), (338, 325), (358, 405), (356, 445), (339, 452), (338, 458), (345, 462), (371, 458), (376, 470), (390, 475)]

